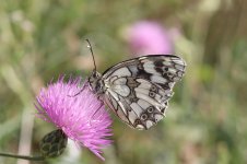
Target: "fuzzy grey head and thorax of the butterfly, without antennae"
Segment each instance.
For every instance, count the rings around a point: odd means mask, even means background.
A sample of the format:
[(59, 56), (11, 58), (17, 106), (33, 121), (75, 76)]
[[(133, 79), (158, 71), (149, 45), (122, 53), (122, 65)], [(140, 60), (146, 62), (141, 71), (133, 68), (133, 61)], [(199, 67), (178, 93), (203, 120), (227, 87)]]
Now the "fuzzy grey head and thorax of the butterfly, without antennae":
[(89, 83), (91, 86), (91, 90), (95, 93), (102, 93), (104, 85), (102, 84), (102, 74), (98, 73), (96, 70), (93, 70), (89, 78)]

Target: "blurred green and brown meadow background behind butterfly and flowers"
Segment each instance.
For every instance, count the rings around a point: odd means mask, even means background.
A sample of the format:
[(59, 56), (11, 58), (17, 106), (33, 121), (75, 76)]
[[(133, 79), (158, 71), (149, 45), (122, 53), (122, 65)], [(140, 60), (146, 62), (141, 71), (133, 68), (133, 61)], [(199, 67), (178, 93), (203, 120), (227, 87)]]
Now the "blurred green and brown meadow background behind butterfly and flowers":
[(40, 163), (247, 163), (246, 16), (245, 0), (0, 0), (0, 152), (38, 153), (54, 127), (34, 117), (35, 95), (59, 74), (89, 75), (84, 38), (104, 72), (132, 57), (128, 28), (144, 20), (170, 33), (174, 54), (188, 65), (166, 118), (138, 131), (113, 116), (105, 162), (71, 142), (62, 156)]

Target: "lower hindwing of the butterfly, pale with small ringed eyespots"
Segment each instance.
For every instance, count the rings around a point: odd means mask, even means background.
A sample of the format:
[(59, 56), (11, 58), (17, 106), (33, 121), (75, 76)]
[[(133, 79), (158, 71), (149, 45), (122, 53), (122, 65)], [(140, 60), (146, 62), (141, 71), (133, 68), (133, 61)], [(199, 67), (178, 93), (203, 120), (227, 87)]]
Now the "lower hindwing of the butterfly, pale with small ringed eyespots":
[[(131, 84), (128, 82), (131, 81)], [(144, 79), (118, 78), (106, 91), (106, 104), (130, 127), (149, 129), (164, 117), (172, 91)], [(128, 90), (127, 90), (128, 89)]]

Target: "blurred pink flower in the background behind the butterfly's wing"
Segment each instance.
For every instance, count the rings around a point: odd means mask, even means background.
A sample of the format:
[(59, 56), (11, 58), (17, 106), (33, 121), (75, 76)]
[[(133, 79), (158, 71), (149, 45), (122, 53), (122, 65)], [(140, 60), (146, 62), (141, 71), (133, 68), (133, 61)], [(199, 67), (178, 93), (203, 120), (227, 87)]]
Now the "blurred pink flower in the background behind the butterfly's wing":
[(174, 54), (174, 44), (168, 32), (156, 22), (138, 22), (128, 32), (131, 51), (137, 56)]

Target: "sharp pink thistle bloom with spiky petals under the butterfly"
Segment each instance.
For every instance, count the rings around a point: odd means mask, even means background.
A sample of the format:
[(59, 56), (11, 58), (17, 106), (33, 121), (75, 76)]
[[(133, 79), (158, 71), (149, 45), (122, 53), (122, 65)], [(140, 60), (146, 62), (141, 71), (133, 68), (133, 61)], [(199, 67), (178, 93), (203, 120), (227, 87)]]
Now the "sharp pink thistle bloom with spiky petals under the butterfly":
[[(81, 79), (70, 78), (68, 83), (64, 83), (63, 79), (64, 77), (61, 77), (58, 82), (42, 89), (36, 97), (37, 116), (52, 122), (68, 138), (89, 148), (104, 160), (101, 149), (111, 143), (107, 139), (111, 136), (111, 119), (86, 82), (82, 90)], [(75, 95), (81, 90), (82, 92)]]

